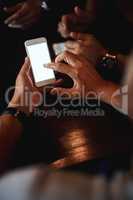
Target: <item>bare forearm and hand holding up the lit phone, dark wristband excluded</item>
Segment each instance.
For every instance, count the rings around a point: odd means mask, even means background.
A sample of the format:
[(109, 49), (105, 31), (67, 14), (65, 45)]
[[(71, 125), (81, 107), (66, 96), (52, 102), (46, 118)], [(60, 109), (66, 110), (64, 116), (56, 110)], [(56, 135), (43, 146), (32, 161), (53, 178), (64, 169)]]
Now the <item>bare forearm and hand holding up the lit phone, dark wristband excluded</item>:
[[(37, 94), (37, 92), (39, 93), (31, 83), (31, 78), (28, 75), (29, 68), (30, 63), (29, 60), (26, 59), (16, 80), (14, 96), (10, 102), (7, 102), (8, 107), (15, 108), (17, 111), (22, 112), (22, 114), (25, 113), (26, 115), (32, 112), (34, 105), (37, 105), (37, 98), (35, 97), (35, 104), (31, 99), (30, 102), (28, 101), (29, 103), (27, 105), (25, 92), (29, 92), (29, 98), (30, 96), (33, 97), (34, 92), (35, 94)], [(21, 119), (17, 114), (4, 114), (0, 117), (0, 172), (8, 167), (11, 154), (22, 134), (22, 131), (23, 125), (21, 124)]]

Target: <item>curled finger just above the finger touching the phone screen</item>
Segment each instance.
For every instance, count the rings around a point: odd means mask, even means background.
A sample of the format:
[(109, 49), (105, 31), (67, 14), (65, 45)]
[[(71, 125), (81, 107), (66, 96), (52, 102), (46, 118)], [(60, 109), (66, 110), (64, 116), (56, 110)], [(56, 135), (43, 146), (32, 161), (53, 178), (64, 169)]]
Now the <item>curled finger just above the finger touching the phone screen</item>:
[(65, 51), (58, 55), (55, 59), (55, 62), (66, 62), (68, 65), (72, 67), (77, 67), (78, 64), (78, 57), (68, 51)]

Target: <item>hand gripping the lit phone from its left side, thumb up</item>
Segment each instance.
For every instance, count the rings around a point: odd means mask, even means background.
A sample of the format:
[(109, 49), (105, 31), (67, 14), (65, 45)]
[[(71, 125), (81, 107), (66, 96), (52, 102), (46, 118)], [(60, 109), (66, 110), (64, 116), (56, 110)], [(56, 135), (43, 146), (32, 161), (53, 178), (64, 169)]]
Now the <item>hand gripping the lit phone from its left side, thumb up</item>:
[(15, 92), (9, 107), (18, 107), (29, 113), (33, 111), (34, 107), (42, 103), (40, 102), (41, 97), (41, 91), (33, 85), (30, 74), (30, 61), (26, 58), (16, 79)]

